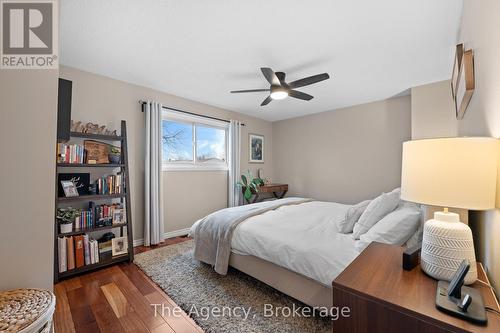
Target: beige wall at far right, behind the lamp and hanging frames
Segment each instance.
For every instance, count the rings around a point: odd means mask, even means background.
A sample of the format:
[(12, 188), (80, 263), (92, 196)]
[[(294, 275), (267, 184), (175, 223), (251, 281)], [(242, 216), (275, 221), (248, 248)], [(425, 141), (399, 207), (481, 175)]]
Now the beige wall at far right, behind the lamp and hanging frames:
[[(500, 2), (465, 0), (460, 40), (474, 50), (476, 89), (462, 121), (459, 135), (483, 135), (500, 138)], [(500, 170), (499, 170), (500, 174)], [(473, 214), (471, 225), (476, 233), (478, 257), (500, 290), (500, 178), (497, 209)]]

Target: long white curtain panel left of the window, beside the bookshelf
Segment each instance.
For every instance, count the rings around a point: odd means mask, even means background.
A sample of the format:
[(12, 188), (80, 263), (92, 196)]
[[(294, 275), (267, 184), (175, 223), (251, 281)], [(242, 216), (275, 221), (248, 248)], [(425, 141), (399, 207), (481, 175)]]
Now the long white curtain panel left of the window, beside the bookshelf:
[(163, 241), (162, 205), (162, 106), (157, 102), (143, 105), (146, 114), (146, 164), (144, 182), (144, 245)]

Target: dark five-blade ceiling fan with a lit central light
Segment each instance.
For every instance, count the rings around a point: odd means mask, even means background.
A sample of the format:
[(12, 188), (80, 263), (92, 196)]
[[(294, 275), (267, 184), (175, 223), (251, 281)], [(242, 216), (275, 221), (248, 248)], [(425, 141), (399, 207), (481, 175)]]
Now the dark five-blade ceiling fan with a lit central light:
[(313, 96), (294, 89), (308, 86), (310, 84), (314, 84), (330, 78), (328, 73), (323, 73), (286, 83), (286, 74), (284, 72), (274, 72), (271, 68), (268, 67), (262, 67), (260, 70), (262, 71), (262, 74), (264, 74), (266, 80), (271, 84), (271, 87), (269, 87), (269, 89), (233, 90), (231, 91), (231, 93), (237, 94), (262, 91), (270, 92), (269, 96), (260, 104), (261, 106), (269, 104), (273, 99), (284, 99), (287, 96), (302, 99), (304, 101), (309, 101), (313, 99)]

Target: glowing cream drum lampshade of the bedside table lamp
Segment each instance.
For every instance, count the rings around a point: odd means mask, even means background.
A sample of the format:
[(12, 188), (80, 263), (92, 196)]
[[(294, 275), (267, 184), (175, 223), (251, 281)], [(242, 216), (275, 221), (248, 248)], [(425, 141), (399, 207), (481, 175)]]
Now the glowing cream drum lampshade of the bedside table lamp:
[(498, 147), (494, 138), (403, 143), (401, 198), (433, 206), (495, 208)]

